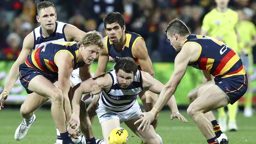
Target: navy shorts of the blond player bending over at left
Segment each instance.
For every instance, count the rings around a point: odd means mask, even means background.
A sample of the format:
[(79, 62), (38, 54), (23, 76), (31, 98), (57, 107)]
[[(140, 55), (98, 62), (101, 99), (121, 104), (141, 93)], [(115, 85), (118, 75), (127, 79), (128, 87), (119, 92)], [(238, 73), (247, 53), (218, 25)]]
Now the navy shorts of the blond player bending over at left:
[(28, 90), (28, 83), (31, 81), (31, 79), (35, 78), (35, 76), (37, 75), (44, 76), (45, 78), (50, 80), (52, 83), (58, 80), (57, 72), (56, 74), (48, 74), (46, 72), (43, 72), (42, 70), (28, 67), (25, 63), (19, 66), (19, 70), (20, 70), (20, 83), (26, 89), (26, 92), (28, 94), (32, 93), (32, 91)]

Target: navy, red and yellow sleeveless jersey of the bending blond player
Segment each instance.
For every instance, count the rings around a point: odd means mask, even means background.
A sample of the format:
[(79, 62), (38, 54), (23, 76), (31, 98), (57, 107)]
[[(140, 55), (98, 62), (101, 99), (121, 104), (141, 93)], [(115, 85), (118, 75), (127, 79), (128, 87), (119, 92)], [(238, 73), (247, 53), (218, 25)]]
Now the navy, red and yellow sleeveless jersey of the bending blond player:
[(78, 47), (76, 42), (52, 42), (34, 50), (25, 60), (25, 64), (31, 68), (42, 70), (52, 74), (58, 72), (55, 63), (59, 52), (68, 52), (74, 60), (74, 69), (82, 67), (83, 62), (78, 62)]

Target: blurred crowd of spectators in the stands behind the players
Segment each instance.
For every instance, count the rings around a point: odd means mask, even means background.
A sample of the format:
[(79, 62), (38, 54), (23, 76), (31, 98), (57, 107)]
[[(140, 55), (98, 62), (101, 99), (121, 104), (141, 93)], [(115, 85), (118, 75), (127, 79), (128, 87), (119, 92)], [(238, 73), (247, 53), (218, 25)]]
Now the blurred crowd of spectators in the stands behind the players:
[[(192, 34), (200, 34), (204, 15), (215, 7), (214, 0), (50, 0), (57, 20), (85, 32), (104, 32), (103, 17), (119, 11), (126, 30), (140, 34), (152, 61), (174, 61), (176, 52), (164, 33), (168, 22), (178, 17)], [(36, 21), (39, 0), (0, 0), (0, 59), (17, 59), (26, 35), (40, 24)], [(255, 0), (230, 0), (231, 9), (243, 9), (256, 24)]]

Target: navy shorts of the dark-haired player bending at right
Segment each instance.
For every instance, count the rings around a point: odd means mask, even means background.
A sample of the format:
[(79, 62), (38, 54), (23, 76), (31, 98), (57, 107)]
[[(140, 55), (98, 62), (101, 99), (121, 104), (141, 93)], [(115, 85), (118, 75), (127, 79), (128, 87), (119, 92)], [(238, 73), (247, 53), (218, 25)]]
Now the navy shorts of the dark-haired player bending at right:
[(214, 81), (228, 95), (230, 104), (239, 100), (245, 94), (248, 86), (246, 74), (228, 78), (214, 78)]

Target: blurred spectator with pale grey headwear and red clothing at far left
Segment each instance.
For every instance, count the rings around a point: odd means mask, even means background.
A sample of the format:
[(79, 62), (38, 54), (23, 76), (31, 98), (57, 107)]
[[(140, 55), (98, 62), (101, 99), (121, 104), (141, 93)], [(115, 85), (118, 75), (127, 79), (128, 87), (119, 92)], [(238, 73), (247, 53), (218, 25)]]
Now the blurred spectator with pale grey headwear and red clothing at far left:
[(8, 47), (4, 48), (3, 52), (7, 59), (17, 59), (20, 54), (20, 36), (17, 33), (10, 33), (6, 42)]

